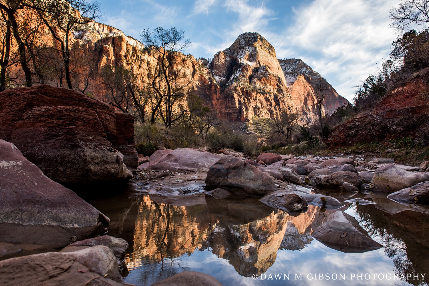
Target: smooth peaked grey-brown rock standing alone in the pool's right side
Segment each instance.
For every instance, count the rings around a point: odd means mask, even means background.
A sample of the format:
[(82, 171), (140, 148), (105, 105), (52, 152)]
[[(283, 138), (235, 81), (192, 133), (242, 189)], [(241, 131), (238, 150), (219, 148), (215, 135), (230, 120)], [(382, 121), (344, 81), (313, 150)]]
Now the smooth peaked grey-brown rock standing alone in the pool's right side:
[(343, 211), (336, 211), (327, 217), (311, 236), (327, 247), (348, 253), (361, 253), (383, 247), (369, 237), (354, 217)]

